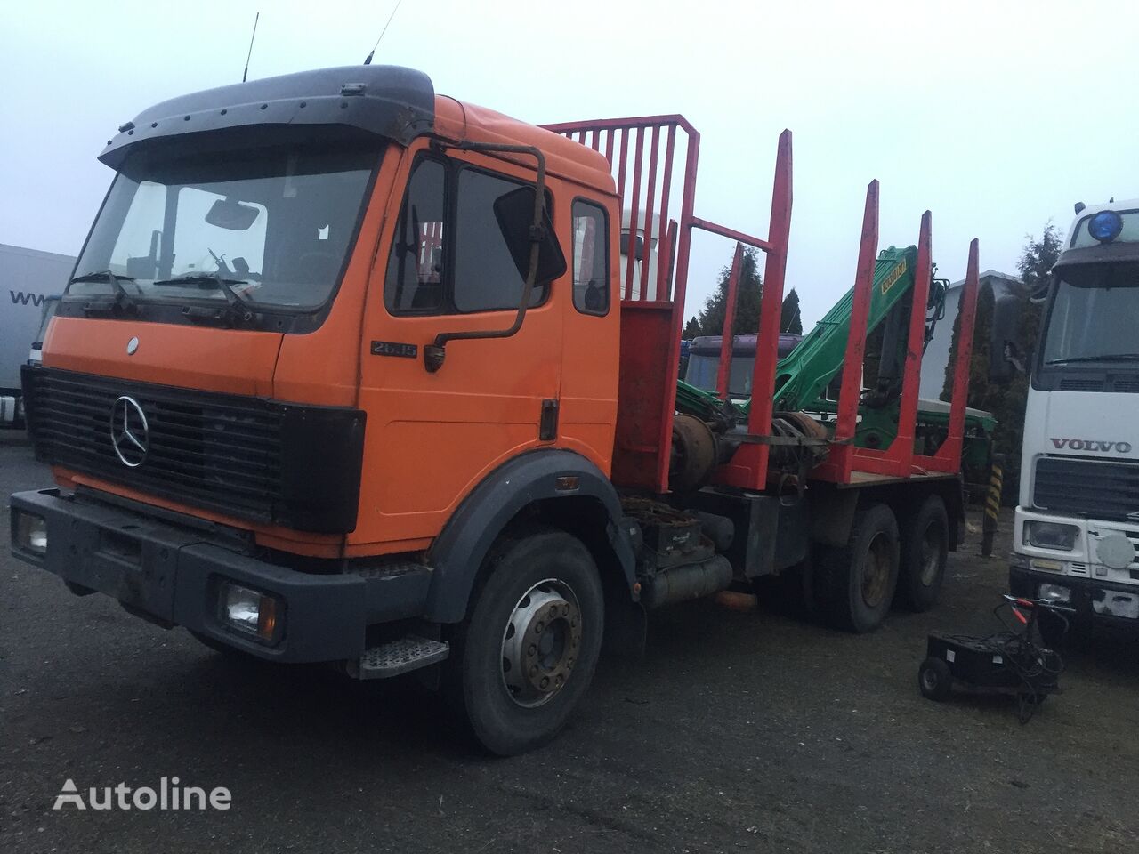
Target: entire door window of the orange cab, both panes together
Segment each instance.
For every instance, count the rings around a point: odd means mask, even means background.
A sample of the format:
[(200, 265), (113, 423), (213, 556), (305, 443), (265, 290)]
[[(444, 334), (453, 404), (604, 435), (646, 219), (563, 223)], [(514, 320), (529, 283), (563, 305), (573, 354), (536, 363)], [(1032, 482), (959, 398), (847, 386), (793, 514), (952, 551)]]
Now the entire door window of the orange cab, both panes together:
[[(502, 237), (494, 203), (525, 186), (454, 162), (419, 159), (387, 261), (387, 310), (454, 314), (517, 309), (525, 281)], [(548, 192), (546, 198), (549, 211)], [(549, 287), (536, 286), (530, 304), (543, 303)]]

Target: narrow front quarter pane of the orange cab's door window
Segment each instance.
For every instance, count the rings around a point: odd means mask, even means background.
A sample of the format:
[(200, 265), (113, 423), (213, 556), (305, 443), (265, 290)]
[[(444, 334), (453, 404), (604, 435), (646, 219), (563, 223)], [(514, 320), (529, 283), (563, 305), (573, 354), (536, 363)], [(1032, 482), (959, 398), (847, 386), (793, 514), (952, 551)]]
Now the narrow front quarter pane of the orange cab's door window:
[(443, 313), (445, 182), (439, 161), (419, 161), (411, 172), (384, 282), (384, 303), (393, 313)]

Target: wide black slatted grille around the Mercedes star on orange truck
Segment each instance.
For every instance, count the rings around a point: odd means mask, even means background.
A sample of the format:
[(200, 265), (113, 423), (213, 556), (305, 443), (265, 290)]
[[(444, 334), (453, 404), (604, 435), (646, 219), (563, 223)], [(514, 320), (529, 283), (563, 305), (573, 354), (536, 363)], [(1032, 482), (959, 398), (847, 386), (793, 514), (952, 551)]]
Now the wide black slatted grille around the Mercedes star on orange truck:
[[(238, 519), (322, 533), (355, 527), (363, 412), (54, 368), (23, 373), (28, 428), (44, 462)], [(121, 396), (147, 421), (149, 446), (136, 468), (112, 441)]]

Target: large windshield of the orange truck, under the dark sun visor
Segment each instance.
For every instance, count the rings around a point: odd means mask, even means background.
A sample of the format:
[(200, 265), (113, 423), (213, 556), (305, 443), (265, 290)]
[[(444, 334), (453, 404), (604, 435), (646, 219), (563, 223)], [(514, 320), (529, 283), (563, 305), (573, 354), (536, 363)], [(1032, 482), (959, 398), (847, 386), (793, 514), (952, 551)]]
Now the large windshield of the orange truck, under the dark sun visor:
[(338, 282), (378, 159), (375, 147), (328, 146), (134, 155), (67, 295), (319, 307)]

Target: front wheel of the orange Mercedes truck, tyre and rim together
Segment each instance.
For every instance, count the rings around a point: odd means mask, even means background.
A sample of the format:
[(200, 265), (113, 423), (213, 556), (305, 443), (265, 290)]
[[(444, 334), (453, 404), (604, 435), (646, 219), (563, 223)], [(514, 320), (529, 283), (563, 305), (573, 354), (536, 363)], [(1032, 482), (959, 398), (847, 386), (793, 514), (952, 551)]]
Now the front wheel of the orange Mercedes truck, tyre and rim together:
[(552, 739), (589, 688), (604, 619), (580, 540), (549, 528), (503, 535), (449, 659), (448, 693), (475, 741), (511, 756)]

